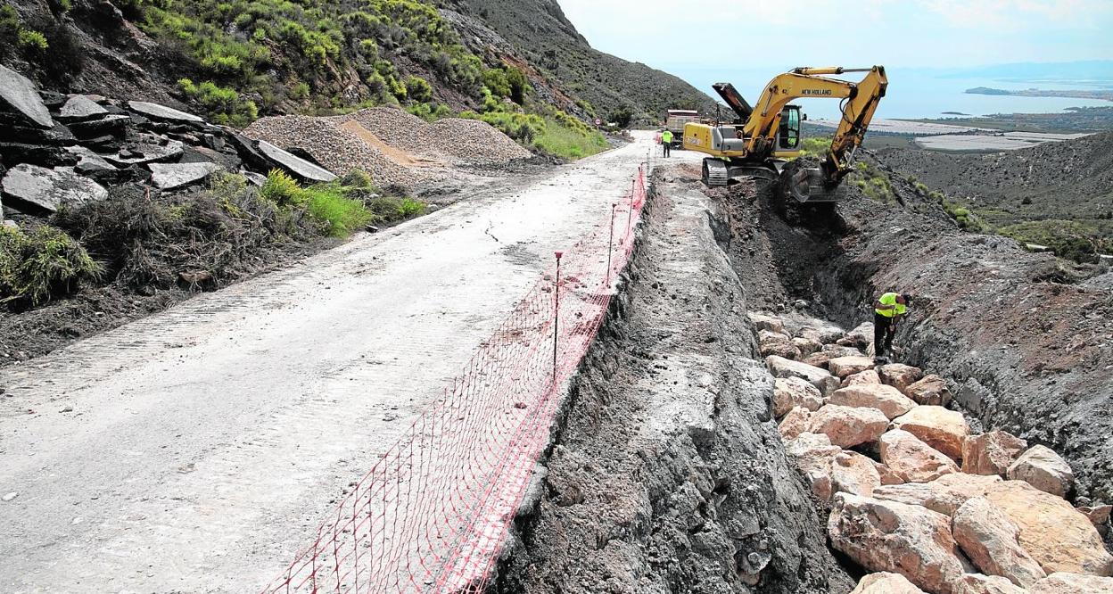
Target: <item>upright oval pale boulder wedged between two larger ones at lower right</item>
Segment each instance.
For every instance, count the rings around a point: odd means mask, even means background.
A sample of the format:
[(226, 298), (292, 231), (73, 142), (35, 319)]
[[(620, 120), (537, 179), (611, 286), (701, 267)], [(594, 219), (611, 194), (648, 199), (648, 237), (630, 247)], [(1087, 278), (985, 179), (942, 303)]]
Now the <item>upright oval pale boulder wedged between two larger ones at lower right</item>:
[(966, 557), (988, 575), (1031, 587), (1047, 576), (1021, 546), (1021, 529), (985, 497), (972, 497), (953, 516), (952, 532)]

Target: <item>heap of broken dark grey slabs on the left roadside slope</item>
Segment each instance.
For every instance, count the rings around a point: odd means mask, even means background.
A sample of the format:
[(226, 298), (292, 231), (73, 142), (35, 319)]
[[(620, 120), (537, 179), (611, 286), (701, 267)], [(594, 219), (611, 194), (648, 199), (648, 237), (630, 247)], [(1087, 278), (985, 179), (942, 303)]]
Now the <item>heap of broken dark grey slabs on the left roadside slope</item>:
[(0, 66), (0, 219), (104, 200), (116, 185), (185, 190), (221, 170), (262, 184), (275, 168), (304, 182), (336, 179), (311, 160), (193, 113), (40, 91)]

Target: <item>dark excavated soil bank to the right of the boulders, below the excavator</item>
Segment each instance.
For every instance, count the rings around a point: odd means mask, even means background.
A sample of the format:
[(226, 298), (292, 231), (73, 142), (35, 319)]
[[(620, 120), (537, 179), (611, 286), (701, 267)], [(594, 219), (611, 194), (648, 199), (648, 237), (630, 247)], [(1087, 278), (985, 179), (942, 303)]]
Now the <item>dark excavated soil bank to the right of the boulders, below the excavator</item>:
[(903, 204), (850, 188), (837, 216), (811, 219), (715, 190), (730, 221), (720, 239), (751, 307), (806, 299), (818, 317), (853, 327), (871, 319), (874, 296), (913, 294), (897, 335), (903, 363), (953, 378), (958, 404), (986, 430), (1061, 453), (1076, 497), (1113, 501), (1113, 290), (1084, 281), (1093, 268), (959, 231), (907, 182), (892, 182)]

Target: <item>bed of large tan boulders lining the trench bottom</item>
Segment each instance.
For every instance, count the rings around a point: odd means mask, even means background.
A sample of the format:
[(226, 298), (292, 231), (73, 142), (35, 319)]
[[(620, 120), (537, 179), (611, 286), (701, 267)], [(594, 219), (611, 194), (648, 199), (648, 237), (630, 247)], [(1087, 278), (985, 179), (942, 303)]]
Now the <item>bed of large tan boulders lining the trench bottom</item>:
[(1113, 593), (1113, 507), (1068, 503), (1074, 476), (1054, 451), (975, 434), (947, 408), (945, 378), (865, 355), (868, 324), (750, 319), (830, 544), (871, 572), (856, 594)]

